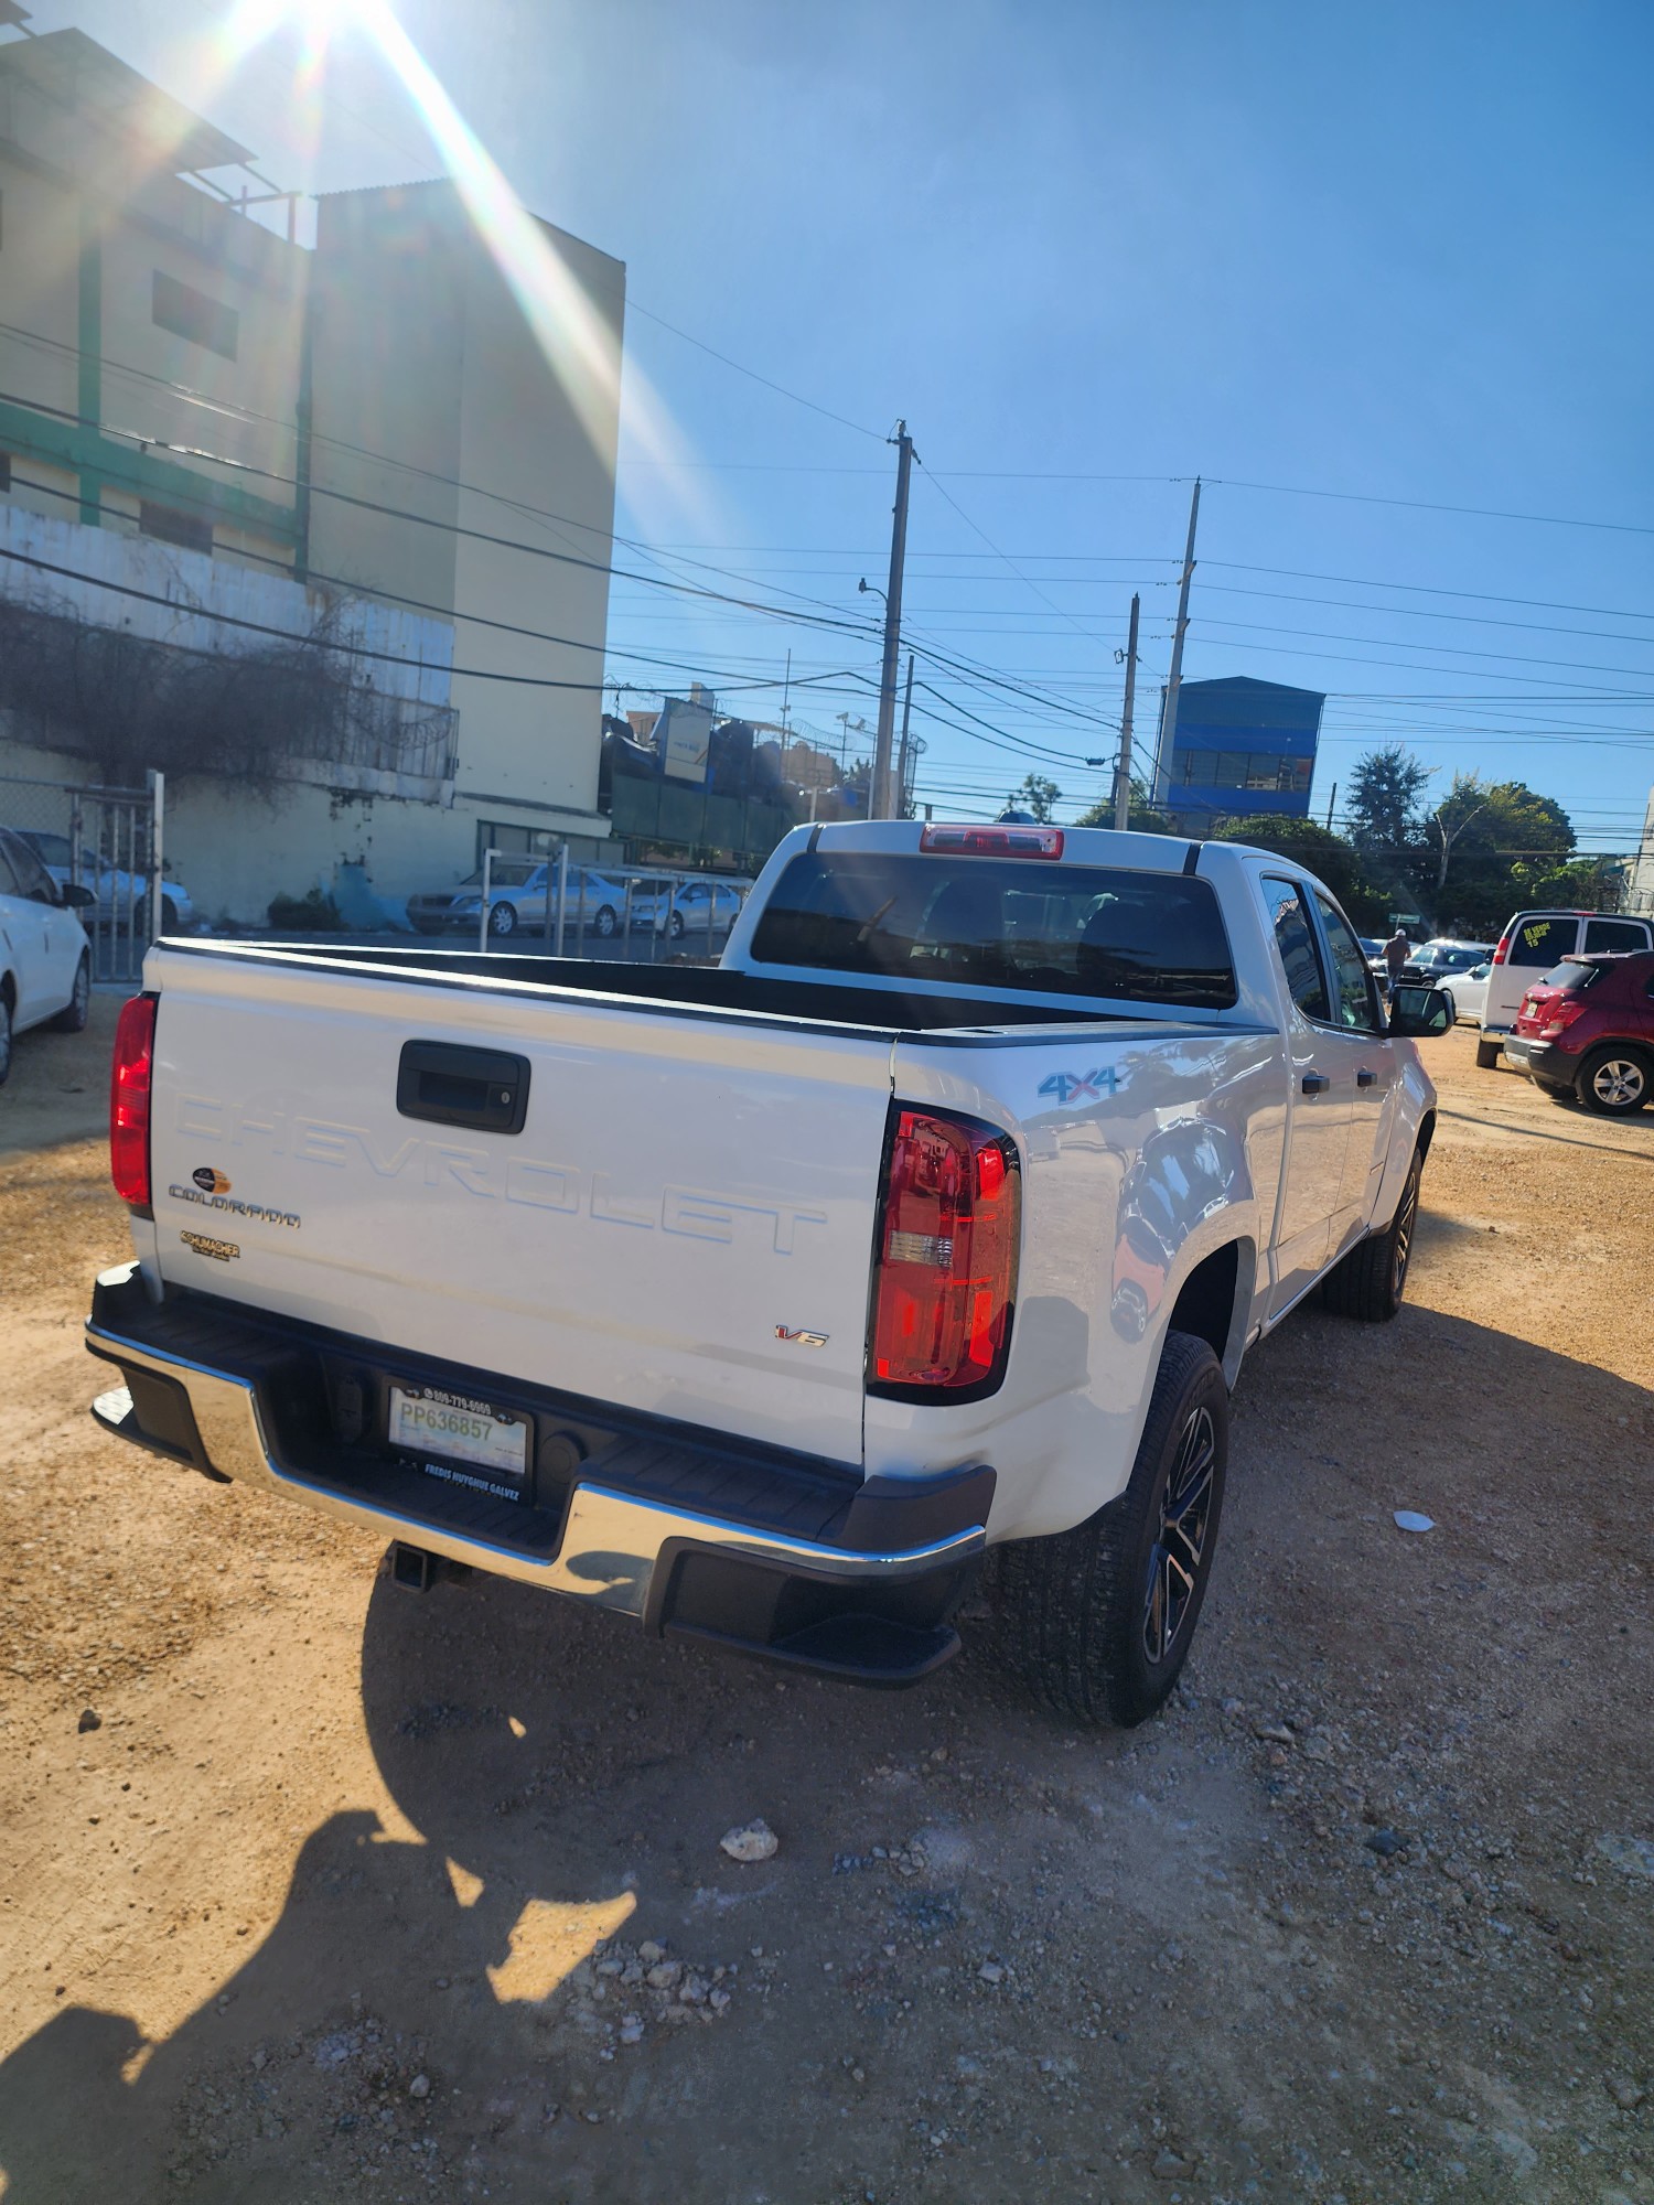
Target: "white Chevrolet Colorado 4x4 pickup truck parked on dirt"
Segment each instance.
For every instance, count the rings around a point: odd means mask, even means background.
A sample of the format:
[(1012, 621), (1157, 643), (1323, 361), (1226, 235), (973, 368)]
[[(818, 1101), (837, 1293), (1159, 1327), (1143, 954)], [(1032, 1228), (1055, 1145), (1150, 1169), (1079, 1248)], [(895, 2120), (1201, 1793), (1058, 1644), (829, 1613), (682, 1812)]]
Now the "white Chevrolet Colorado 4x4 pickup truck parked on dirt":
[(1178, 1678), (1228, 1391), (1400, 1305), (1436, 1094), (1328, 891), (1226, 842), (787, 836), (715, 968), (161, 942), (95, 1413), (207, 1477), (860, 1682)]

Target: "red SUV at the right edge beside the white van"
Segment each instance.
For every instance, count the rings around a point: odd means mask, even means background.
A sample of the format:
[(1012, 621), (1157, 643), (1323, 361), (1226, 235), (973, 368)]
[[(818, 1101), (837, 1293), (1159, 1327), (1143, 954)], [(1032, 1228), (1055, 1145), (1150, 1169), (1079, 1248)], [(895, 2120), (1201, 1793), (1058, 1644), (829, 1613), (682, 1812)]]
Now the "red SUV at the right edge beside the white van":
[(1566, 957), (1522, 997), (1504, 1054), (1612, 1118), (1654, 1100), (1654, 950)]

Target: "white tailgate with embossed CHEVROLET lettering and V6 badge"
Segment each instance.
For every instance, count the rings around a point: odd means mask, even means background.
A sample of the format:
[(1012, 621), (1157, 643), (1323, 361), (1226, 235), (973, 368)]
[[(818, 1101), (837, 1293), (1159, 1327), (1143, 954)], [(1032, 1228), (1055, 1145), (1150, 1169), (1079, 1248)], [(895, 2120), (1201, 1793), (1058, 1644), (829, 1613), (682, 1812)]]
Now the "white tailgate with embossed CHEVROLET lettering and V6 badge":
[[(860, 1464), (889, 1036), (187, 950), (146, 979), (165, 1279)], [(410, 1041), (523, 1058), (520, 1131), (406, 1116)]]

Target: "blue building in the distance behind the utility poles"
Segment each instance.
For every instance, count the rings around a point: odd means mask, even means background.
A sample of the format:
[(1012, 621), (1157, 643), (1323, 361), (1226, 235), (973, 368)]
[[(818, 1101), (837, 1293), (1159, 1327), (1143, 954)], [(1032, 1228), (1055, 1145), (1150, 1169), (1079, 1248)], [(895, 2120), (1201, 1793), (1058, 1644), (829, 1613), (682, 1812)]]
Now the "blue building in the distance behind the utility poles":
[[(1178, 725), (1160, 759), (1160, 807), (1195, 833), (1253, 811), (1308, 818), (1323, 703), (1317, 690), (1248, 675), (1184, 681)], [(1164, 690), (1160, 712), (1164, 719)]]

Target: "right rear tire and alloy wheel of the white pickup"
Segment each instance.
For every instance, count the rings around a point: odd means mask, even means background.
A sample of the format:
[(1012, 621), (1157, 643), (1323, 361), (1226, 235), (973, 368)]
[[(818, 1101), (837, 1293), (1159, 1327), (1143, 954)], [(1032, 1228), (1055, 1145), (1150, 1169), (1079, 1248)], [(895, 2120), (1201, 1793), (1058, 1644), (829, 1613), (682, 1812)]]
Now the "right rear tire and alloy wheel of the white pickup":
[(1039, 1700), (1127, 1729), (1162, 1707), (1206, 1596), (1226, 1464), (1217, 1356), (1169, 1332), (1125, 1493), (1074, 1530), (995, 1555), (999, 1647)]

